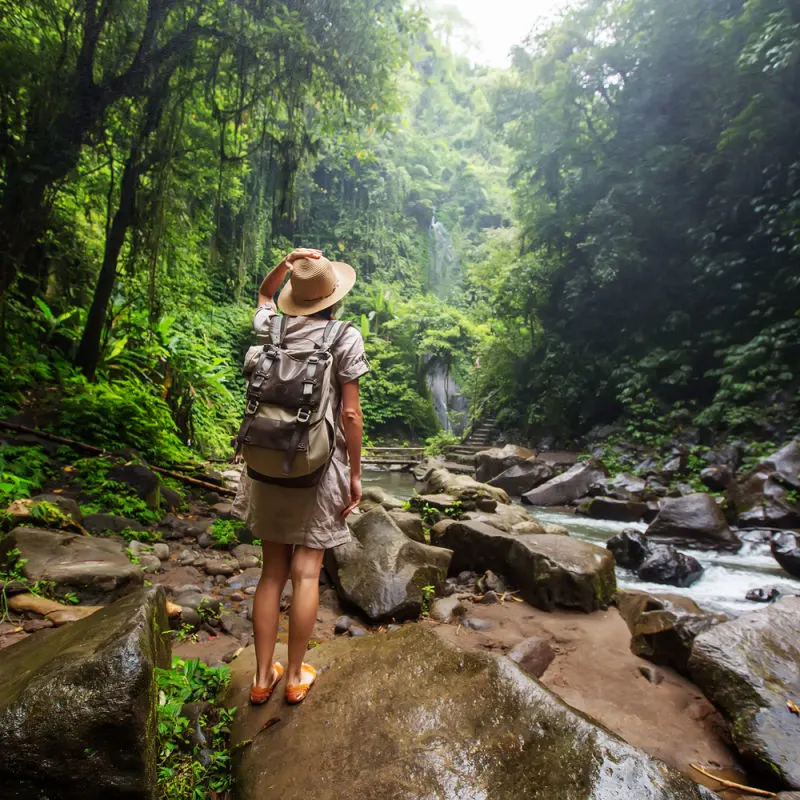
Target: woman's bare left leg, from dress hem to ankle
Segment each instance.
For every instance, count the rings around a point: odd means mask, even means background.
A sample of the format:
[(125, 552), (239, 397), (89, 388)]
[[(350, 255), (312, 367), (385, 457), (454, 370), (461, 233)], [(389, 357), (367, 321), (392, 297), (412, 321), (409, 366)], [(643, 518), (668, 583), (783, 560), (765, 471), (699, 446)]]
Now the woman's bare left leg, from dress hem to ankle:
[(264, 566), (253, 599), (253, 633), (256, 640), (256, 685), (272, 683), (272, 660), (278, 639), (281, 592), (289, 577), (292, 545), (264, 542)]

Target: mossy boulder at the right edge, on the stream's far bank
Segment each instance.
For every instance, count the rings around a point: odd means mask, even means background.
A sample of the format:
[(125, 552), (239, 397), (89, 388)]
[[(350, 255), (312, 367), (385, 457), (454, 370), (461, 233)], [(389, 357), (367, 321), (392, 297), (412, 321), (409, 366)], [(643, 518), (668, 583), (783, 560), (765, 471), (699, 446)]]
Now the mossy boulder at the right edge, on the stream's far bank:
[(800, 527), (800, 441), (792, 440), (764, 459), (739, 483), (731, 484), (728, 497), (741, 528)]

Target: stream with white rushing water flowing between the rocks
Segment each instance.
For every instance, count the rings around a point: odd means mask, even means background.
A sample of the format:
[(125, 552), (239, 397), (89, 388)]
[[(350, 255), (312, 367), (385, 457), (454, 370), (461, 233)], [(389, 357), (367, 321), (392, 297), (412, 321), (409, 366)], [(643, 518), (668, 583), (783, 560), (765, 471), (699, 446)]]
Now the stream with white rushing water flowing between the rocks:
[[(380, 486), (403, 500), (408, 499), (416, 488), (410, 472), (365, 471), (364, 484)], [(524, 506), (534, 519), (540, 522), (556, 522), (564, 525), (576, 539), (583, 539), (604, 547), (608, 539), (624, 528), (644, 531), (644, 523), (613, 522), (595, 520), (565, 511), (550, 511), (546, 508)], [(621, 589), (641, 589), (657, 593), (681, 594), (691, 597), (708, 611), (738, 615), (753, 611), (762, 603), (745, 600), (750, 589), (775, 586), (782, 593), (800, 594), (800, 581), (787, 575), (772, 557), (768, 544), (745, 542), (738, 553), (704, 551), (680, 547), (681, 552), (694, 556), (705, 569), (697, 583), (687, 588), (646, 583), (630, 570), (617, 567), (617, 584)]]

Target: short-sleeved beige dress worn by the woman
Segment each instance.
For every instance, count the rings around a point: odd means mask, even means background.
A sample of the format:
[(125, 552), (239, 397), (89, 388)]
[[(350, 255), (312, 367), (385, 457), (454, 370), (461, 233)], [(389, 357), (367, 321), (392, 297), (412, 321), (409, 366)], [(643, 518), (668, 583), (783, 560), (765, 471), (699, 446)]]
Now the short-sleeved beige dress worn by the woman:
[[(263, 305), (256, 311), (253, 327), (257, 333), (269, 331), (270, 320), (275, 313), (271, 304)], [(304, 339), (320, 342), (327, 324), (327, 320), (317, 317), (292, 317), (284, 341), (289, 347), (296, 346)], [(337, 409), (341, 402), (341, 385), (369, 372), (369, 363), (361, 334), (352, 326), (342, 334), (331, 353), (337, 378), (333, 382), (331, 407)], [(316, 486), (286, 489), (251, 480), (243, 471), (234, 508), (243, 509), (246, 504), (250, 529), (253, 536), (262, 542), (302, 544), (315, 550), (326, 550), (350, 539), (350, 532), (342, 517), (342, 510), (349, 502), (350, 467), (340, 420), (336, 426), (333, 458)]]

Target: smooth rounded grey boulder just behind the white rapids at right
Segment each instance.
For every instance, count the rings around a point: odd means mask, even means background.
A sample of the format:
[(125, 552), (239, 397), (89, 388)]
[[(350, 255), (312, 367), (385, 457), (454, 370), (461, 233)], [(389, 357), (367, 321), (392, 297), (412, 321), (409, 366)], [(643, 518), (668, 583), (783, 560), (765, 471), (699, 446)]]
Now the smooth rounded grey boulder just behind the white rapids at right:
[(658, 516), (647, 529), (647, 536), (689, 541), (694, 547), (721, 550), (738, 550), (742, 546), (714, 498), (702, 492), (662, 501)]

